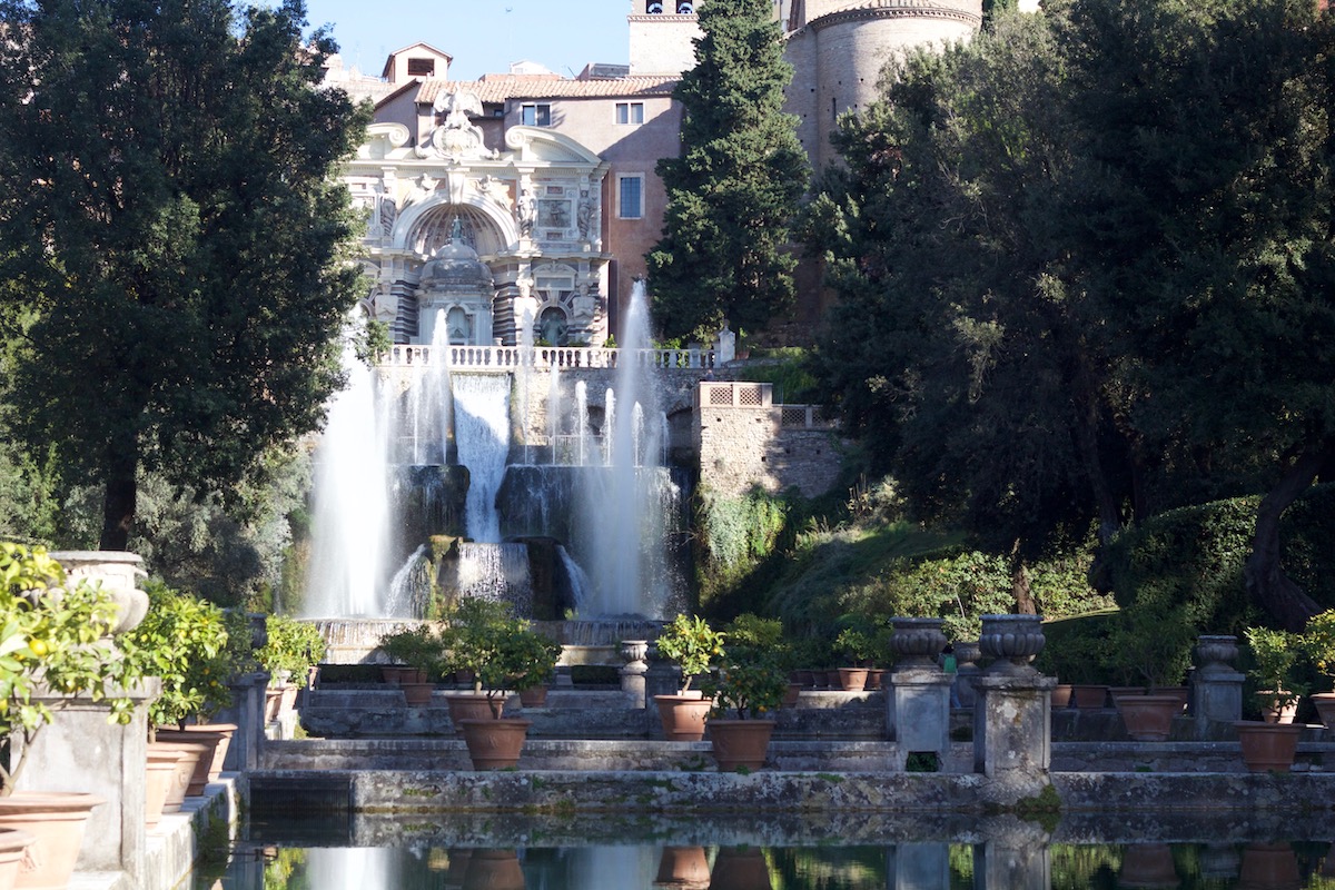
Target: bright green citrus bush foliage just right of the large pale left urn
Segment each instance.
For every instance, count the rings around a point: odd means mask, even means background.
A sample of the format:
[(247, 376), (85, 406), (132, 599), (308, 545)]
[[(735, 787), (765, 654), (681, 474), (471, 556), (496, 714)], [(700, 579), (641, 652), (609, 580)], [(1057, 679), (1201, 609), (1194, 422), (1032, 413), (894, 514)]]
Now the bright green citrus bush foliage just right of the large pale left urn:
[(148, 614), (120, 644), (143, 674), (162, 679), (162, 695), (148, 706), (148, 722), (155, 727), (184, 723), (227, 707), (232, 664), (223, 610), (162, 580), (146, 582), (144, 591)]

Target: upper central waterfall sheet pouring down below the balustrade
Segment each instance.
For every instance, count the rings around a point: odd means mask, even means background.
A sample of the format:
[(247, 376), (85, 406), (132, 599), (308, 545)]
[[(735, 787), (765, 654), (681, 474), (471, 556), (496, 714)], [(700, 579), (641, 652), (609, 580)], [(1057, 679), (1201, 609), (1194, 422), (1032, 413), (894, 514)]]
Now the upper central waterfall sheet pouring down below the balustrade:
[(510, 375), (455, 374), (454, 444), (469, 468), (465, 527), (474, 540), (501, 540), (497, 492), (510, 454)]

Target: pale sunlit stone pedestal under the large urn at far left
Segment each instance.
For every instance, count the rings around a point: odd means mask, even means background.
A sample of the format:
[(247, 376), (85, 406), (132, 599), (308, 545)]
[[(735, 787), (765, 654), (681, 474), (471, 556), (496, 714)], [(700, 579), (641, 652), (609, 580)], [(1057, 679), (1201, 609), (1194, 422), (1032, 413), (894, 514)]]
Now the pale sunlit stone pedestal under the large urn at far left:
[(79, 871), (124, 871), (134, 886), (144, 878), (148, 779), (148, 705), (162, 691), (150, 678), (129, 691), (125, 725), (108, 723), (111, 709), (85, 697), (40, 694), (55, 721), (44, 726), (27, 753), (21, 791), (87, 791), (105, 798), (84, 830)]

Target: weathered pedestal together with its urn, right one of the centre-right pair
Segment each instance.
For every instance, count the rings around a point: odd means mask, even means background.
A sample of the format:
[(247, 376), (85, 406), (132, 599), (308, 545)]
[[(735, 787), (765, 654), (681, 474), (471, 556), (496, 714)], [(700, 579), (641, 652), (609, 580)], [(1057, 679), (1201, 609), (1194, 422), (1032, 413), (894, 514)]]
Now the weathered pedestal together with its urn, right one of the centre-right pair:
[(1049, 785), (1057, 681), (1029, 664), (1043, 643), (1037, 615), (983, 616), (979, 646), (995, 660), (973, 681), (973, 769), (992, 779), (988, 794), (997, 802), (1033, 797)]

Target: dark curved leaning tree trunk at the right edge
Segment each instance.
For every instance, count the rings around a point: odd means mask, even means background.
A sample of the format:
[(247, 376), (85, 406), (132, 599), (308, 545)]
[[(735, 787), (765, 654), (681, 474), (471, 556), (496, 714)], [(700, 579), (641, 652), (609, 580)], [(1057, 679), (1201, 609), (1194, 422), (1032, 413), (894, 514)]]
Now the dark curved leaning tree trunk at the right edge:
[(1256, 536), (1243, 570), (1247, 592), (1288, 631), (1303, 630), (1307, 619), (1320, 611), (1320, 607), (1284, 574), (1280, 564), (1279, 520), (1288, 504), (1311, 487), (1332, 452), (1335, 439), (1323, 439), (1308, 443), (1299, 454), (1288, 456), (1279, 482), (1266, 492), (1256, 508)]

